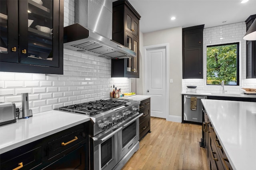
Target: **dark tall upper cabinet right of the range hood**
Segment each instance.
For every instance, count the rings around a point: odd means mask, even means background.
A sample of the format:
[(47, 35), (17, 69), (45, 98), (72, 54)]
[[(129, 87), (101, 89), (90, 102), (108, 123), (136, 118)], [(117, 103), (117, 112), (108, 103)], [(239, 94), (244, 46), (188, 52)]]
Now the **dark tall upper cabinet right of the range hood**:
[(139, 78), (140, 15), (127, 0), (113, 2), (112, 39), (136, 53), (128, 59), (112, 59), (111, 77)]

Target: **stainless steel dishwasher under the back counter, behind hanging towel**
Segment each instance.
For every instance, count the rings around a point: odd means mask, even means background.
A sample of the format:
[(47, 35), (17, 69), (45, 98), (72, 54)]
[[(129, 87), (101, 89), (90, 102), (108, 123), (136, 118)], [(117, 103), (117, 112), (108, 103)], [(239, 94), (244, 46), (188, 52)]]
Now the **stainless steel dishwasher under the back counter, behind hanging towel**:
[[(190, 109), (191, 98), (196, 97), (196, 109)], [(184, 95), (184, 121), (202, 123), (202, 102), (207, 96)]]

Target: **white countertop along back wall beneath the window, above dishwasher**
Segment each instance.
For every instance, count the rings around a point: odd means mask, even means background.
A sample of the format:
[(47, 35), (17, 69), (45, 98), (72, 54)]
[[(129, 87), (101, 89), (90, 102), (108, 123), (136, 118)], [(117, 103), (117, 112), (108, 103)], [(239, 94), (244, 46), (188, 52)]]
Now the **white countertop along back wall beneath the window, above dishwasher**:
[(256, 98), (256, 95), (248, 94), (231, 94), (231, 93), (207, 93), (207, 92), (182, 92), (184, 95), (199, 95), (199, 96), (225, 96), (225, 97), (237, 97), (237, 98)]

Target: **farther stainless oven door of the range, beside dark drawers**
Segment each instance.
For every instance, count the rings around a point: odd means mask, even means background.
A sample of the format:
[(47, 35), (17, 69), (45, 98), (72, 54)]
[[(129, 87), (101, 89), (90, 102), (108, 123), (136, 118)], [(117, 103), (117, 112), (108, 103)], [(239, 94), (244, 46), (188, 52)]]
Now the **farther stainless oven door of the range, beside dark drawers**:
[(142, 115), (137, 112), (120, 125), (122, 130), (118, 132), (118, 162), (139, 141), (139, 118)]

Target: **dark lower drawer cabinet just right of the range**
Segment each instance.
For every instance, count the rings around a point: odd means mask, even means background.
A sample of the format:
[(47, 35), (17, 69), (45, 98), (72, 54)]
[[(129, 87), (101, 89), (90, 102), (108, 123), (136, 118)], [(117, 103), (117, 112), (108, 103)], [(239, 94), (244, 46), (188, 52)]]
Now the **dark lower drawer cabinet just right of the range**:
[(146, 134), (150, 133), (150, 98), (142, 100), (140, 102), (140, 111), (139, 113), (143, 113), (140, 117), (140, 137), (139, 141), (146, 136)]

